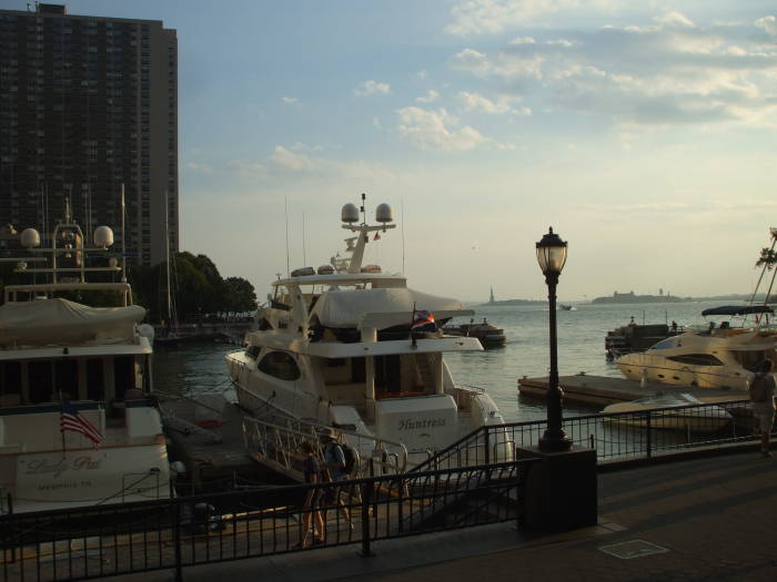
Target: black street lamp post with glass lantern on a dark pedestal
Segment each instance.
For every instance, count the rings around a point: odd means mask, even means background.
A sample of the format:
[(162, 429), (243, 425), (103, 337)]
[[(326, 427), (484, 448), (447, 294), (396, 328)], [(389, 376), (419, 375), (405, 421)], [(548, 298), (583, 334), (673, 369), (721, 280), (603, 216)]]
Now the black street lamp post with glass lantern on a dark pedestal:
[(537, 243), (537, 263), (547, 283), (547, 300), (551, 327), (551, 377), (545, 401), (547, 405), (547, 429), (539, 438), (539, 449), (546, 452), (566, 451), (572, 441), (562, 429), (562, 391), (558, 388), (558, 341), (556, 339), (556, 285), (566, 263), (566, 243), (548, 228)]

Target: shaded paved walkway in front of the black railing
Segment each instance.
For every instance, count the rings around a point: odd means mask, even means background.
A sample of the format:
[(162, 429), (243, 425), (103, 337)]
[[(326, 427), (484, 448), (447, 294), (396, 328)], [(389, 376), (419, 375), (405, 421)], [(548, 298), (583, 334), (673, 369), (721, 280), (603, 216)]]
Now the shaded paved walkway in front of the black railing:
[[(569, 487), (574, 487), (571, 483)], [(185, 582), (777, 580), (777, 456), (756, 452), (599, 476), (599, 525), (529, 539), (505, 523), (184, 568)], [(614, 555), (620, 554), (622, 558)], [(170, 580), (170, 572), (122, 576)]]

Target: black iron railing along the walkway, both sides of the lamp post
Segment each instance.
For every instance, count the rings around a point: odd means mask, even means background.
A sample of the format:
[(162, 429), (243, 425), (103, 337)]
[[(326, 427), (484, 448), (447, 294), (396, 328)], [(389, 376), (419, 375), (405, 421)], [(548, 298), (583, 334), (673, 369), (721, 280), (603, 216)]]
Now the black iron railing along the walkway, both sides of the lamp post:
[[(749, 401), (730, 400), (578, 416), (564, 430), (596, 449), (599, 463), (613, 463), (753, 440), (750, 415)], [(373, 542), (391, 538), (509, 520), (519, 527), (532, 448), (545, 426), (483, 427), (404, 474), (0, 515), (1, 580), (160, 569), (180, 579), (195, 564), (342, 544), (369, 555)], [(494, 462), (506, 451), (524, 459)], [(321, 502), (305, 507), (311, 489)]]

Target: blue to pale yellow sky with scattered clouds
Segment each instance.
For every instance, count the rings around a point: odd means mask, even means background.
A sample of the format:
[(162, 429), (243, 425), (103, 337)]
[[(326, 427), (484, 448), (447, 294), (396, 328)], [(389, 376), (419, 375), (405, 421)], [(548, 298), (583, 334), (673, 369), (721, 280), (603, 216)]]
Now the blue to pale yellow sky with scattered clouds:
[[(3, 2), (26, 9), (26, 2)], [(464, 300), (753, 290), (777, 224), (777, 7), (761, 0), (73, 0), (179, 40), (181, 248), (263, 298), (344, 248)], [(289, 248), (289, 253), (286, 253)]]

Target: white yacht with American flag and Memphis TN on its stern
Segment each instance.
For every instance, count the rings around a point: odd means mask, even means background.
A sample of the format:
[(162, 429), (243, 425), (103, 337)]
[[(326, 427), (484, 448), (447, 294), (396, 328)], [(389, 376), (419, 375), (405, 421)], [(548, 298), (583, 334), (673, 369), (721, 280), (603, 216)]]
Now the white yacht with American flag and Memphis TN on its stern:
[[(140, 324), (145, 309), (132, 305), (117, 258), (85, 266), (109, 254), (113, 233), (98, 227), (97, 248), (87, 248), (68, 208), (51, 248), (37, 248), (32, 228), (21, 242), (29, 257), (13, 259), (16, 272), (37, 282), (7, 286), (0, 307), (0, 512), (170, 497), (160, 413), (148, 398), (153, 329)], [(94, 292), (118, 306), (58, 297)]]

